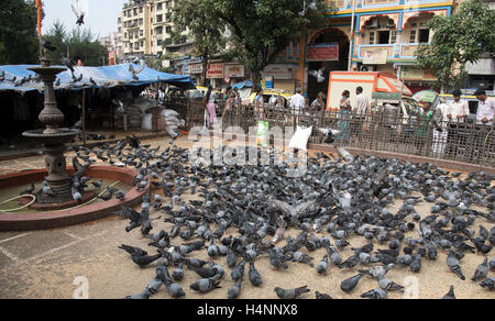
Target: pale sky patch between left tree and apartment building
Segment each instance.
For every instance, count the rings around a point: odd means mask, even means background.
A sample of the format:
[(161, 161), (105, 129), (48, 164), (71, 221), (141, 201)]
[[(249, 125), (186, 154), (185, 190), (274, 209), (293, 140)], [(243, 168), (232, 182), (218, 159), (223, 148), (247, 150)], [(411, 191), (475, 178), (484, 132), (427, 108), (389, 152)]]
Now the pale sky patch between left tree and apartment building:
[(47, 32), (53, 23), (59, 20), (67, 30), (76, 27), (76, 14), (70, 4), (85, 8), (86, 18), (82, 29), (90, 29), (97, 36), (106, 36), (117, 31), (117, 16), (122, 10), (125, 0), (43, 0), (45, 19), (43, 19), (43, 33)]

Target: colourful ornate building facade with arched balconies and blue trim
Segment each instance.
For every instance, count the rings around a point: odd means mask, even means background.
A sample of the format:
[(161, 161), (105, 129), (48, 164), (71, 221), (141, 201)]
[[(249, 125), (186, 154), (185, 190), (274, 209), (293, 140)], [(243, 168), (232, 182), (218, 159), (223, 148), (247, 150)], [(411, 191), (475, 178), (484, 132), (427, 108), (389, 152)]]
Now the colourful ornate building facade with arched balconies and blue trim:
[[(432, 38), (427, 22), (435, 15), (450, 16), (454, 1), (331, 2), (337, 11), (327, 15), (328, 25), (308, 30), (299, 44), (295, 81), (301, 84), (310, 99), (319, 91), (327, 92), (328, 73), (336, 70), (387, 71), (403, 79), (414, 92), (431, 87), (436, 80), (431, 73), (415, 68), (415, 51), (420, 43)], [(288, 63), (294, 65), (295, 62)], [(312, 74), (321, 69), (327, 79), (319, 82)]]

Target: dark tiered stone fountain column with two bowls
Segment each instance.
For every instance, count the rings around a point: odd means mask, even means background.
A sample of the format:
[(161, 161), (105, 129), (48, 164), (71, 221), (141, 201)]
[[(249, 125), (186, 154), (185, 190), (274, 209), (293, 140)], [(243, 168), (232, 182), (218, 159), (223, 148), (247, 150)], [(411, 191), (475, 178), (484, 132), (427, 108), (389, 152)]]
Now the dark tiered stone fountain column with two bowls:
[(65, 144), (73, 141), (80, 132), (78, 130), (61, 129), (64, 114), (57, 108), (53, 82), (56, 76), (66, 68), (51, 67), (51, 60), (42, 57), (41, 67), (29, 68), (41, 76), (44, 82), (44, 109), (40, 113), (40, 121), (46, 129), (28, 131), (23, 136), (33, 139), (44, 145), (45, 166), (48, 176), (45, 178), (53, 195), (45, 195), (42, 190), (36, 196), (37, 203), (64, 203), (73, 201), (70, 179), (66, 171), (64, 156)]

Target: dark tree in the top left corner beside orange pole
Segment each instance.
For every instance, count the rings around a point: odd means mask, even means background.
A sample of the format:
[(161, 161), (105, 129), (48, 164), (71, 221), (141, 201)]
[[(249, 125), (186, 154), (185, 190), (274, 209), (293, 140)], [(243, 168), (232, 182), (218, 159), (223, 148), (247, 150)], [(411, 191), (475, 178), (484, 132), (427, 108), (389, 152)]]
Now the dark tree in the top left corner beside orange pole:
[(38, 64), (34, 0), (1, 0), (0, 65)]

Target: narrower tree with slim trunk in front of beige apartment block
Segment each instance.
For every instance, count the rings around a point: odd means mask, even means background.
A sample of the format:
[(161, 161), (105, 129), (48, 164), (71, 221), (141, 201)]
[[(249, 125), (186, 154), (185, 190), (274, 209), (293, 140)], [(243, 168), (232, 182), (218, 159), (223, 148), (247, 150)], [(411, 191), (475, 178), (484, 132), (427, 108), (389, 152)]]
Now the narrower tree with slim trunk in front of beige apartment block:
[(180, 42), (187, 32), (195, 44), (195, 55), (201, 58), (201, 78), (206, 86), (209, 60), (224, 51), (227, 45), (226, 23), (219, 19), (209, 1), (183, 0), (175, 3), (173, 41)]

